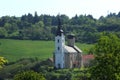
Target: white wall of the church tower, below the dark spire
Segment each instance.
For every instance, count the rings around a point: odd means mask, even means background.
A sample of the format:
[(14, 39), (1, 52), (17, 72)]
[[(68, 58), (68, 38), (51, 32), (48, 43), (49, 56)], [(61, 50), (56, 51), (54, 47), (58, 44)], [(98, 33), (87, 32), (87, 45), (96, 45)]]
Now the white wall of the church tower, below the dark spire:
[(55, 37), (55, 67), (64, 68), (64, 35)]

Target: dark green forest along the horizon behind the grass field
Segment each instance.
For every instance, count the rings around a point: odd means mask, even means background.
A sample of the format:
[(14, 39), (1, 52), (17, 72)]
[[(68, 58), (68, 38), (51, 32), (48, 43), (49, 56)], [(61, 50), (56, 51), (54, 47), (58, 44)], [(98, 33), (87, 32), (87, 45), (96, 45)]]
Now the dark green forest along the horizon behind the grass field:
[[(120, 35), (120, 12), (99, 19), (92, 15), (75, 15), (72, 18), (60, 15), (60, 18), (65, 35), (74, 33), (78, 42), (95, 43), (104, 31)], [(57, 24), (58, 15), (39, 16), (35, 12), (21, 17), (3, 16), (0, 18), (0, 38), (54, 40)]]

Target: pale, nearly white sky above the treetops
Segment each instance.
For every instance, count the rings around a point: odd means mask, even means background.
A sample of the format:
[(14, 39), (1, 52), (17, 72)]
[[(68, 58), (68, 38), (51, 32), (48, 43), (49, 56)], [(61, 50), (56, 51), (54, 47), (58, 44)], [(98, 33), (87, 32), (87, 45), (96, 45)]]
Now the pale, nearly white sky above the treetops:
[(120, 0), (1, 0), (0, 17), (16, 16), (35, 11), (38, 15), (65, 14), (70, 18), (77, 15), (92, 15), (94, 18), (120, 12)]

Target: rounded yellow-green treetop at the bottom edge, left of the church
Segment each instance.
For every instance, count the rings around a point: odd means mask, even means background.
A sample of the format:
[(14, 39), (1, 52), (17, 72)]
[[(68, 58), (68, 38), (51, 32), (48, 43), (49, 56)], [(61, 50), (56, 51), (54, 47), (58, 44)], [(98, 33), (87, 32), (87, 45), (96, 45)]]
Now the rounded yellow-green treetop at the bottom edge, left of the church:
[(14, 76), (14, 80), (46, 80), (41, 73), (25, 71)]

